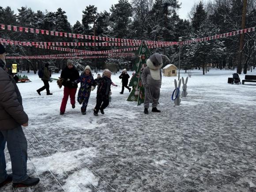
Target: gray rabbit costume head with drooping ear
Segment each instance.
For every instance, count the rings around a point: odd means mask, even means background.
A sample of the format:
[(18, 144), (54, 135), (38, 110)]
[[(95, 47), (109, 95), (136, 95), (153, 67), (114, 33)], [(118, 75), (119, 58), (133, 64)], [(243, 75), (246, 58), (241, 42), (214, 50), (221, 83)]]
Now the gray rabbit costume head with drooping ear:
[(167, 60), (168, 62), (171, 62), (167, 56), (159, 54), (159, 53), (154, 53), (153, 55), (151, 55), (149, 57), (149, 59), (147, 60), (147, 66), (150, 69), (153, 70), (158, 70), (160, 68), (162, 68), (163, 66), (163, 59)]

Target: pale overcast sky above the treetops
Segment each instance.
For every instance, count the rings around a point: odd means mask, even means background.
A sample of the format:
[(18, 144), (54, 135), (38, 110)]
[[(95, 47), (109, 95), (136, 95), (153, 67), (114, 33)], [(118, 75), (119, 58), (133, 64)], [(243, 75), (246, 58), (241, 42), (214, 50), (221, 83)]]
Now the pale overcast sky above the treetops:
[[(193, 4), (198, 0), (179, 0), (182, 3), (179, 15), (181, 19), (187, 19), (188, 12), (191, 10)], [(17, 9), (23, 7), (32, 8), (33, 11), (41, 10), (45, 12), (56, 11), (57, 8), (62, 8), (66, 11), (68, 21), (71, 25), (74, 25), (77, 20), (81, 22), (82, 11), (88, 5), (95, 5), (98, 8), (98, 12), (108, 11), (112, 4), (117, 4), (118, 0), (1, 0), (0, 6), (6, 8), (10, 6), (15, 13), (18, 13)]]

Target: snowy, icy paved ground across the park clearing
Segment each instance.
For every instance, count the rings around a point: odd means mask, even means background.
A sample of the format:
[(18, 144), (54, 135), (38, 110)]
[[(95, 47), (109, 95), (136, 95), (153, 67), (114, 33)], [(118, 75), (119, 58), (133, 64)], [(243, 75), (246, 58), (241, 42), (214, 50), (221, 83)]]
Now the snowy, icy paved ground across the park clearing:
[[(53, 81), (53, 95), (39, 96), (42, 82), (28, 74), (32, 82), (18, 84), (30, 118), (24, 128), (28, 174), (41, 181), (31, 188), (8, 184), (1, 191), (256, 191), (256, 83), (228, 84), (234, 72), (193, 70), (179, 107), (171, 101), (177, 77), (163, 77), (162, 113), (149, 115), (143, 105), (126, 101), (128, 90), (119, 94), (120, 79), (112, 75), (119, 87), (112, 87), (112, 102), (98, 117), (96, 90), (85, 116), (78, 103), (75, 109), (68, 103), (60, 116), (63, 88)], [(11, 173), (7, 151), (6, 158)]]

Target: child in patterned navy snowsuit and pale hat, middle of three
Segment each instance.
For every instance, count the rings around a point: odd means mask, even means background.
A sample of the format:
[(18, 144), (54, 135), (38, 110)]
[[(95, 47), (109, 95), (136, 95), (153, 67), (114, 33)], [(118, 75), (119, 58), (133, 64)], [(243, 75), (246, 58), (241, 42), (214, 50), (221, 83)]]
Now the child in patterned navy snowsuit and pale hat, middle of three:
[(77, 101), (79, 104), (82, 104), (81, 113), (83, 115), (86, 114), (87, 104), (90, 98), (90, 91), (95, 89), (96, 83), (94, 82), (94, 78), (91, 74), (90, 66), (87, 65), (84, 68), (84, 72), (80, 75), (79, 80), (76, 83), (80, 82), (80, 88), (78, 91)]

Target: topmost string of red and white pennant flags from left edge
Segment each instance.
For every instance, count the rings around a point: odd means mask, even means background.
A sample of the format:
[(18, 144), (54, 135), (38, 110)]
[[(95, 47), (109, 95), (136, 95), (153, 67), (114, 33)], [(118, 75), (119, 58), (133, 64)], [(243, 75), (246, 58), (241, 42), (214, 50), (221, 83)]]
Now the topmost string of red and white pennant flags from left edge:
[[(89, 40), (97, 40), (97, 41), (113, 41), (113, 42), (118, 42), (118, 43), (129, 43), (129, 44), (131, 44), (131, 43), (136, 44), (137, 43), (139, 45), (143, 41), (143, 40), (136, 40), (136, 39), (109, 38), (109, 37), (92, 36), (92, 35), (84, 35), (84, 34), (73, 34), (73, 33), (68, 33), (68, 32), (34, 29), (34, 28), (30, 28), (30, 27), (12, 26), (12, 25), (5, 25), (5, 24), (0, 24), (0, 26), (1, 26), (1, 28), (0, 28), (1, 30), (7, 29), (9, 31), (19, 31), (19, 32), (25, 32), (25, 33), (32, 33), (32, 34), (44, 34), (44, 35), (66, 37), (66, 38), (89, 39)], [(171, 43), (169, 41), (144, 41), (144, 42), (147, 45), (154, 45), (154, 44), (159, 44), (159, 43), (160, 44), (169, 44), (169, 43)], [(172, 43), (177, 44), (177, 42), (172, 42)]]

